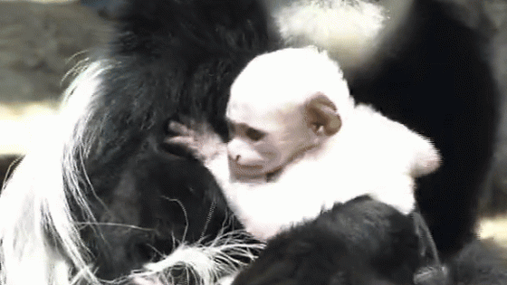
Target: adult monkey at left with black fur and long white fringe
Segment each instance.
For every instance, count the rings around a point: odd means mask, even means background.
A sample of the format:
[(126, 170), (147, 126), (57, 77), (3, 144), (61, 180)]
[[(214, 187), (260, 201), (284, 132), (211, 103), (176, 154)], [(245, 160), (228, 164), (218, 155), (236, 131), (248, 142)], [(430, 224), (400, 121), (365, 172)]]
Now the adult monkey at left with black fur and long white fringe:
[(259, 248), (206, 168), (163, 141), (175, 114), (225, 135), (230, 84), (266, 49), (262, 7), (127, 0), (118, 15), (2, 191), (2, 284), (210, 283)]

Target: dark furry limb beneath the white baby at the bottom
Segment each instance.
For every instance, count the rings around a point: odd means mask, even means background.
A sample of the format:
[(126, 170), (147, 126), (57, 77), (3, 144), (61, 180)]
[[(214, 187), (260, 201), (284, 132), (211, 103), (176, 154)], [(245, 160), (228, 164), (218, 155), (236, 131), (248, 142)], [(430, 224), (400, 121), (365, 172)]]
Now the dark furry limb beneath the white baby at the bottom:
[(411, 284), (418, 267), (412, 219), (359, 197), (274, 237), (234, 285)]

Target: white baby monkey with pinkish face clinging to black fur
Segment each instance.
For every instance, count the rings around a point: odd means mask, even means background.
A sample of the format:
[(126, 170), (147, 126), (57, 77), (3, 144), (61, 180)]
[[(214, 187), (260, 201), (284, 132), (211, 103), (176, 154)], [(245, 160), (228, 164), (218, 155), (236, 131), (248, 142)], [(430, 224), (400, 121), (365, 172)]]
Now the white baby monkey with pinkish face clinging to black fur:
[(206, 124), (169, 128), (215, 176), (246, 230), (266, 240), (337, 202), (370, 195), (409, 213), (415, 178), (440, 164), (429, 139), (355, 105), (340, 67), (312, 47), (249, 62), (226, 109), (231, 140)]

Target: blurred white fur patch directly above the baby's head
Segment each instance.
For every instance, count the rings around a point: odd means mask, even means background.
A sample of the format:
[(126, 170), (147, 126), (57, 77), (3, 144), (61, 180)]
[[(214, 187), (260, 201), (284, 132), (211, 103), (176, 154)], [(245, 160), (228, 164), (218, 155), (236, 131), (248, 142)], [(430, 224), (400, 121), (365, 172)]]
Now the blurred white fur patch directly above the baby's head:
[(326, 49), (344, 70), (369, 63), (404, 23), (413, 0), (265, 0), (287, 46)]

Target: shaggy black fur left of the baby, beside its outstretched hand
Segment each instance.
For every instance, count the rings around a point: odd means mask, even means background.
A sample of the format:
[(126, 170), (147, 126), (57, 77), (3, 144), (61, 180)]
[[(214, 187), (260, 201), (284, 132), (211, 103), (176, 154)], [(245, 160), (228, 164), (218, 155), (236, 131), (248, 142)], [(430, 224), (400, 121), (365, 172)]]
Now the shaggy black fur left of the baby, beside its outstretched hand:
[(121, 7), (106, 55), (112, 67), (84, 133), (91, 152), (82, 171), (98, 222), (139, 228), (81, 230), (97, 276), (106, 280), (169, 254), (173, 238), (196, 242), (213, 239), (224, 224), (241, 226), (204, 166), (162, 142), (177, 114), (205, 117), (226, 136), (228, 88), (267, 43), (263, 10), (253, 1), (139, 0)]

